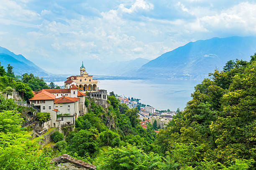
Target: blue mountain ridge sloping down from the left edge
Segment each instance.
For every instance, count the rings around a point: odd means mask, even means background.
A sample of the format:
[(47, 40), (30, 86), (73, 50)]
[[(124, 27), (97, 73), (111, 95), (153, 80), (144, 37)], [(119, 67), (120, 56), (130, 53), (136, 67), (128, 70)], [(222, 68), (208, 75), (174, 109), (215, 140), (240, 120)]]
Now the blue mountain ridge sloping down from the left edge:
[(46, 71), (26, 59), (23, 55), (16, 55), (4, 47), (0, 47), (0, 62), (5, 68), (8, 64), (13, 66), (13, 72), (16, 75), (22, 75), (24, 73), (33, 73), (36, 76), (48, 75)]

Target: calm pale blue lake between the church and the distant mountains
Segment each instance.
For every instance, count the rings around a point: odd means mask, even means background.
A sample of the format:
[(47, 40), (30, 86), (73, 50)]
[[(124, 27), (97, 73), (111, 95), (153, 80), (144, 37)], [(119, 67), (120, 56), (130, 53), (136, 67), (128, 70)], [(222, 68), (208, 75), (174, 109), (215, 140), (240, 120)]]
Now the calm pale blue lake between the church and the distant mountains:
[[(201, 80), (99, 80), (99, 89), (115, 92), (125, 97), (141, 99), (140, 102), (151, 105), (157, 110), (176, 111), (184, 109), (195, 85)], [(54, 82), (64, 85), (64, 82)]]

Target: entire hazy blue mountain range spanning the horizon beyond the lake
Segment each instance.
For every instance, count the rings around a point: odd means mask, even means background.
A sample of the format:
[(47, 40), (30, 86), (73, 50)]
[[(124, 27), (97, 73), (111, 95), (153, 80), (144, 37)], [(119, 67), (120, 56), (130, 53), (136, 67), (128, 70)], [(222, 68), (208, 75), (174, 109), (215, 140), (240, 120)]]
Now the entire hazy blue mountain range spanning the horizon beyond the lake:
[[(137, 58), (109, 63), (90, 60), (84, 61), (84, 65), (93, 75), (143, 79), (202, 79), (214, 69), (222, 70), (228, 60), (250, 60), (254, 52), (256, 52), (256, 37), (214, 37), (189, 42), (154, 60)], [(14, 67), (13, 71), (18, 75), (33, 73), (37, 76), (47, 76), (49, 80), (56, 76), (41, 69), (23, 55), (16, 55), (3, 47), (0, 47), (0, 62), (5, 68), (10, 63)]]

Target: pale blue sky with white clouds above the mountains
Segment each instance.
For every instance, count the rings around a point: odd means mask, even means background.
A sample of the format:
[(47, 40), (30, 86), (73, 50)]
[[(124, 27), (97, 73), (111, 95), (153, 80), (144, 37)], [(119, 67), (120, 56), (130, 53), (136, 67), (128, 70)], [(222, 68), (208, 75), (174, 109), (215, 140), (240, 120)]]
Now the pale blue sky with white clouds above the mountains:
[[(190, 41), (256, 34), (241, 0), (0, 0), (0, 46), (45, 70), (149, 60)], [(96, 66), (95, 66), (96, 67)]]

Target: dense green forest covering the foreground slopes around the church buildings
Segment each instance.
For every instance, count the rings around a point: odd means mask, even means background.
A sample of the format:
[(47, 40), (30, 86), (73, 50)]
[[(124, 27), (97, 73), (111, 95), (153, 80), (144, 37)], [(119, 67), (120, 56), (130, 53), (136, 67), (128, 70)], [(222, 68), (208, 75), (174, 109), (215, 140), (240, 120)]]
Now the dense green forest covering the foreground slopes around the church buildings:
[(137, 108), (113, 93), (108, 102), (104, 109), (87, 99), (89, 111), (78, 117), (75, 130), (65, 140), (54, 134), (57, 149), (42, 149), (21, 128), (13, 100), (1, 96), (0, 169), (50, 170), (51, 159), (67, 153), (97, 170), (256, 170), (256, 54), (210, 73), (158, 134), (150, 123), (147, 129), (139, 125)]

